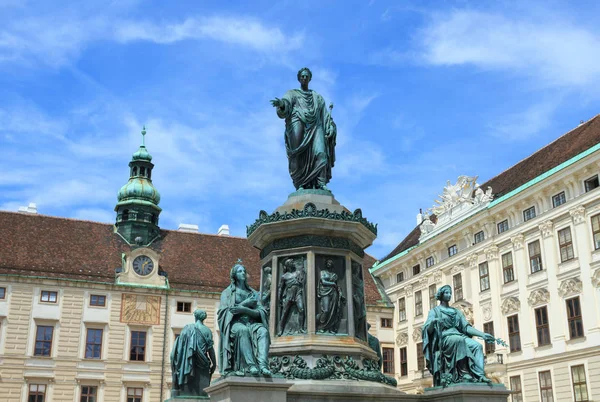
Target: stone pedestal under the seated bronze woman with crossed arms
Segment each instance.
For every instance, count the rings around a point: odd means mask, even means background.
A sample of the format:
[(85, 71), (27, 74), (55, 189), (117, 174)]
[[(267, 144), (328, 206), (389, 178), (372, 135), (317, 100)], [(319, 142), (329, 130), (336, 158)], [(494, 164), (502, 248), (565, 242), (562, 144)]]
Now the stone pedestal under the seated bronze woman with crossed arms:
[(286, 392), (291, 386), (282, 378), (227, 377), (204, 390), (211, 402), (286, 402)]

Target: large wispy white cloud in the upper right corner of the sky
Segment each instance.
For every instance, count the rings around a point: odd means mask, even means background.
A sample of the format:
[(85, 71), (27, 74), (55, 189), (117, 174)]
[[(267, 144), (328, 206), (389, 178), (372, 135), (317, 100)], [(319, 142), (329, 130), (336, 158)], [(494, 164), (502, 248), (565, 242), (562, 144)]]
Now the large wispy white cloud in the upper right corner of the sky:
[(534, 19), (455, 10), (419, 35), (422, 61), (508, 70), (549, 86), (585, 86), (600, 78), (600, 36), (566, 18)]

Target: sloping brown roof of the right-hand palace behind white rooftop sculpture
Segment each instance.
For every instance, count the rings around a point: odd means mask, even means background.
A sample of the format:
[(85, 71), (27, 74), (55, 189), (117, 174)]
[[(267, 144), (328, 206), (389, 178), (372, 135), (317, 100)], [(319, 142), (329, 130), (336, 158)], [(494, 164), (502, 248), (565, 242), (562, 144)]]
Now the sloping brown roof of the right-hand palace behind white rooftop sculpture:
[[(585, 150), (600, 143), (600, 115), (596, 115), (587, 122), (559, 137), (534, 154), (521, 160), (516, 165), (508, 168), (499, 175), (491, 178), (481, 185), (482, 189), (492, 188), (494, 199), (508, 194), (512, 190), (535, 179), (541, 174), (560, 165), (563, 162), (579, 155)], [(416, 226), (398, 244), (392, 252), (381, 261), (386, 261), (401, 252), (419, 244), (421, 231)]]

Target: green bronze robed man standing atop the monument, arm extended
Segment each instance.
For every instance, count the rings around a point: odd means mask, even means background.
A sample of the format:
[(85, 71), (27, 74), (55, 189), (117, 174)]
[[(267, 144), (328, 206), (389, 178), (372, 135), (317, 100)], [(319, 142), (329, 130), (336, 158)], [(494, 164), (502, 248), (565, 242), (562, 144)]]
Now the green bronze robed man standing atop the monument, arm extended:
[[(300, 89), (291, 89), (271, 104), (285, 119), (285, 149), (296, 190), (323, 189), (331, 179), (335, 163), (337, 127), (321, 95), (308, 89), (312, 72), (298, 71)], [(333, 108), (333, 104), (329, 106)]]

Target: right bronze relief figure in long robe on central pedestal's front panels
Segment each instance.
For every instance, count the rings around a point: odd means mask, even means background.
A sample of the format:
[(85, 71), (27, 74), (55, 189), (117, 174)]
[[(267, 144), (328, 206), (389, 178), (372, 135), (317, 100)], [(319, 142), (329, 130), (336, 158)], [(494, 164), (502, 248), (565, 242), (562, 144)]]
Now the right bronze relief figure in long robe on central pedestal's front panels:
[(333, 272), (333, 260), (325, 260), (325, 268), (321, 269), (321, 278), (317, 298), (319, 310), (317, 313), (317, 332), (337, 334), (343, 315), (346, 298), (342, 288), (337, 284), (338, 276)]

